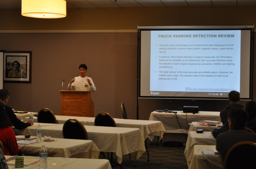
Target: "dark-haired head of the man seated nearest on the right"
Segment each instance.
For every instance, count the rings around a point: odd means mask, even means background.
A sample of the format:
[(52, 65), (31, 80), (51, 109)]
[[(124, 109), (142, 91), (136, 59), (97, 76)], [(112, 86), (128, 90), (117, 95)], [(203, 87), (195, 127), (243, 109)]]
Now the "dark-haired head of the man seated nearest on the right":
[[(246, 111), (238, 107), (231, 108), (228, 113), (229, 128), (231, 127), (245, 127), (248, 120), (248, 114)], [(231, 121), (231, 122), (230, 122)]]

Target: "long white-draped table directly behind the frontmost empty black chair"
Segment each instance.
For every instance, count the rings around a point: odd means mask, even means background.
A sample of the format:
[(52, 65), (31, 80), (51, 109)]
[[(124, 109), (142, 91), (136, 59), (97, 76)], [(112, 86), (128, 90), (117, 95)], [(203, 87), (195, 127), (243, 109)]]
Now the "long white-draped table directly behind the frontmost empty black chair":
[[(33, 126), (27, 127), (22, 135), (30, 134), (36, 136), (35, 123)], [(42, 137), (51, 136), (53, 138), (63, 138), (63, 124), (46, 124), (40, 123), (42, 127)], [(118, 163), (122, 163), (122, 155), (126, 155), (137, 151), (138, 159), (144, 152), (144, 139), (141, 130), (138, 128), (120, 128), (120, 127), (101, 127), (85, 125), (88, 139), (92, 140), (99, 151), (115, 152), (118, 156)]]

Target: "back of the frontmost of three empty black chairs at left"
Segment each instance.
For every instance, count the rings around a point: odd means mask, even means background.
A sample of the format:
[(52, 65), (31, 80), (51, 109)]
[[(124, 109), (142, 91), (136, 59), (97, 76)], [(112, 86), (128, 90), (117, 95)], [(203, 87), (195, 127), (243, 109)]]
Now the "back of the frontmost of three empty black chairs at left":
[(62, 135), (63, 138), (67, 139), (88, 139), (88, 134), (85, 127), (80, 121), (74, 118), (65, 121), (62, 128)]

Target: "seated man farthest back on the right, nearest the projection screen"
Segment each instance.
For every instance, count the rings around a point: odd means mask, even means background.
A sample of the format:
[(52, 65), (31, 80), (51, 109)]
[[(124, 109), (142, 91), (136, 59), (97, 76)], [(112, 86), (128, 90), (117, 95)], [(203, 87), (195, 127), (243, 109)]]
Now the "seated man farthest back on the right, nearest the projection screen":
[(229, 105), (220, 111), (220, 118), (223, 125), (227, 123), (227, 112), (230, 110), (230, 108), (243, 108), (243, 105), (239, 104), (240, 99), (241, 98), (239, 92), (236, 92), (235, 90), (229, 92)]

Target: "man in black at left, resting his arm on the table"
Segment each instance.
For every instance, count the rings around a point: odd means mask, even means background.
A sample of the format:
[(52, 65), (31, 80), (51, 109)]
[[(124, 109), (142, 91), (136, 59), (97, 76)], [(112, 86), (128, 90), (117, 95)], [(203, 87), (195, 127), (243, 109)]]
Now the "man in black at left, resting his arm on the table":
[[(1, 89), (0, 90), (0, 101), (2, 103), (4, 103), (4, 107), (5, 107), (5, 111), (6, 111), (6, 114), (8, 115), (10, 121), (12, 122), (13, 126), (18, 129), (18, 130), (22, 130), (24, 128), (27, 128), (29, 126), (32, 126), (34, 123), (33, 123), (33, 120), (28, 120), (27, 123), (23, 123), (21, 122), (17, 117), (16, 115), (14, 114), (13, 110), (12, 110), (12, 107), (9, 107), (7, 106), (7, 102), (9, 100), (9, 92), (5, 89)], [(15, 129), (14, 129), (15, 130)]]

